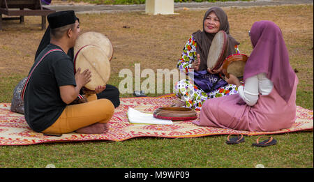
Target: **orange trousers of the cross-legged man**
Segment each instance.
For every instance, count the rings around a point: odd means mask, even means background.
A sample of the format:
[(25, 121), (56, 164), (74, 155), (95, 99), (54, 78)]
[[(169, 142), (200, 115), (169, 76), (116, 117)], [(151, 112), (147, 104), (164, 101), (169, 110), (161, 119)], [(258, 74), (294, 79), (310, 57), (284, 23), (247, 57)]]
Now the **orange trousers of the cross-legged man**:
[(114, 105), (110, 100), (98, 99), (96, 94), (87, 97), (88, 102), (68, 105), (56, 122), (43, 133), (63, 134), (90, 126), (94, 123), (107, 123), (114, 114)]

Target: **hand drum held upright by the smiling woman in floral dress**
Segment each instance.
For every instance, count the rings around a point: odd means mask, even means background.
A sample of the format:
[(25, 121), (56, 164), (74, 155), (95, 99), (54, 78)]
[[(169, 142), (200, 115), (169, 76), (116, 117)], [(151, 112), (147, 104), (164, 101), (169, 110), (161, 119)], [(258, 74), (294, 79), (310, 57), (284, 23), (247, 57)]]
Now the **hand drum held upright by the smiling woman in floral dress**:
[(211, 70), (217, 70), (223, 65), (223, 60), (227, 56), (227, 33), (225, 31), (218, 31), (211, 42), (209, 53), (207, 57), (207, 67)]

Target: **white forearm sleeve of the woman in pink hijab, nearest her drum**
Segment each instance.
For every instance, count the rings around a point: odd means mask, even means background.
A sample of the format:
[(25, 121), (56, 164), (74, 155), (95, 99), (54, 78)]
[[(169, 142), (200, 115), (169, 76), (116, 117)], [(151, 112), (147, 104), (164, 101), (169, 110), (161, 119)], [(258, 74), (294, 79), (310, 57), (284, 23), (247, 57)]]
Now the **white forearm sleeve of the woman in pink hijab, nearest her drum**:
[(246, 79), (244, 86), (238, 88), (239, 96), (247, 105), (253, 106), (258, 100), (258, 77), (257, 75)]

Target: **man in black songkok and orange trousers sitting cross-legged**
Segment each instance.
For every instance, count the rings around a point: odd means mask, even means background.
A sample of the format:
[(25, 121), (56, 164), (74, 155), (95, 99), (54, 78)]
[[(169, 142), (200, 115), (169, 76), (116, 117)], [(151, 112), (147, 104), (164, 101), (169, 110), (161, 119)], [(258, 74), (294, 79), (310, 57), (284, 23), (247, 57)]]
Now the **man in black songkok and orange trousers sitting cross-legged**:
[[(74, 75), (68, 50), (75, 45), (80, 23), (73, 10), (47, 16), (51, 40), (36, 56), (24, 91), (24, 117), (29, 127), (45, 134), (67, 132), (103, 133), (114, 113), (110, 100), (87, 98), (89, 102), (69, 105), (90, 82), (91, 71), (79, 68)], [(100, 93), (105, 86), (97, 86)]]

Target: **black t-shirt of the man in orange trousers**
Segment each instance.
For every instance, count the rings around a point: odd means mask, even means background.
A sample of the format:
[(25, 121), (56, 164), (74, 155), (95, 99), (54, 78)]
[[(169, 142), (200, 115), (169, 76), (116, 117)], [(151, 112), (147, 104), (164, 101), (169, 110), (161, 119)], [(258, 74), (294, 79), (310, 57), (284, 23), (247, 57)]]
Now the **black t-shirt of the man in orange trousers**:
[[(53, 49), (61, 50), (57, 45), (47, 45), (34, 65)], [(32, 130), (41, 132), (57, 121), (66, 108), (59, 89), (65, 85), (76, 86), (73, 62), (65, 52), (51, 52), (33, 71), (24, 93), (24, 116)]]

